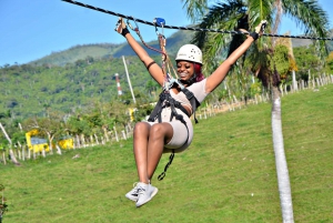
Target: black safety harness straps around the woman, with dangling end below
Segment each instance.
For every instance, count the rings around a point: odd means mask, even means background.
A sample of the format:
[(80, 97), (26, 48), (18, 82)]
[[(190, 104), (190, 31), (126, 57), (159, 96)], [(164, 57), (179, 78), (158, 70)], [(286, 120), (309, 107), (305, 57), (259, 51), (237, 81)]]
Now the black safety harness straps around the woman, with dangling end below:
[[(195, 118), (195, 110), (196, 110), (198, 107), (200, 107), (200, 102), (196, 100), (194, 94), (189, 89), (186, 89), (184, 85), (182, 85), (179, 82), (179, 80), (171, 79), (170, 82), (168, 82), (168, 83), (169, 83), (168, 84), (169, 89), (168, 90), (164, 89), (161, 92), (160, 100), (158, 101), (158, 103), (157, 103), (155, 108), (153, 109), (152, 113), (150, 114), (148, 121), (154, 122), (155, 120), (158, 120), (159, 123), (161, 123), (162, 122), (162, 110), (165, 109), (165, 108), (170, 108), (171, 109), (170, 121), (172, 121), (173, 118), (175, 118), (175, 120), (179, 120), (180, 122), (182, 122), (185, 125), (186, 130), (188, 130), (188, 139), (184, 143), (184, 144), (186, 144), (188, 140), (189, 140), (189, 134), (190, 134), (189, 128), (188, 128), (188, 124), (186, 124), (183, 115), (179, 114), (175, 109), (180, 109), (189, 118), (191, 116), (191, 114), (181, 105), (181, 103), (179, 101), (175, 101), (171, 97), (170, 89), (172, 87), (174, 87), (174, 84), (178, 84), (181, 88), (181, 92), (183, 92), (185, 94), (186, 99), (191, 103), (195, 123), (198, 123), (198, 119)], [(173, 161), (173, 158), (174, 158), (174, 150), (172, 150), (172, 153), (170, 154), (169, 162), (167, 163), (167, 165), (164, 168), (164, 171), (158, 176), (159, 181), (162, 181), (164, 179), (164, 176), (167, 174), (167, 171), (168, 171), (168, 168), (171, 165), (171, 163)]]

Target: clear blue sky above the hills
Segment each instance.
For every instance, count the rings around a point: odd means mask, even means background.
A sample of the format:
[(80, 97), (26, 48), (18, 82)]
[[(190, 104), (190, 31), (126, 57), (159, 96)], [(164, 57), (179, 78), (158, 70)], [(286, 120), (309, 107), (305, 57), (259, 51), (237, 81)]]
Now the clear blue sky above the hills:
[[(78, 1), (145, 21), (159, 17), (170, 26), (191, 23), (180, 0)], [(319, 2), (324, 9), (332, 4), (332, 0)], [(333, 12), (329, 14), (332, 28)], [(124, 39), (113, 31), (117, 20), (114, 16), (61, 0), (0, 0), (0, 65), (23, 64), (77, 44), (122, 43)], [(157, 39), (153, 27), (139, 23), (139, 28), (145, 41)], [(279, 33), (287, 30), (292, 34), (301, 33), (291, 20), (284, 19)], [(175, 31), (165, 29), (167, 39)]]

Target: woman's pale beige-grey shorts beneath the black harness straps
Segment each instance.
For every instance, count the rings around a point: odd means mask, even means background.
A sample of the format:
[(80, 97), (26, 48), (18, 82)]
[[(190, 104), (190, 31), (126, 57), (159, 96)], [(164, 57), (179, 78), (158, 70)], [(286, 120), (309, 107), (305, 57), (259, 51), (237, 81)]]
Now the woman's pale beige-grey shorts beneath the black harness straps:
[[(171, 115), (171, 109), (165, 108), (162, 110), (161, 118), (162, 122), (167, 122), (171, 124), (173, 129), (173, 135), (172, 139), (168, 144), (164, 145), (164, 153), (172, 152), (174, 150), (175, 153), (183, 152), (185, 149), (189, 148), (189, 145), (192, 142), (193, 139), (193, 125), (191, 120), (186, 114), (184, 114), (181, 110), (175, 109), (179, 114), (182, 114), (184, 118), (184, 121), (186, 122), (188, 128), (179, 120), (173, 118), (173, 120), (170, 122), (170, 115)], [(151, 125), (158, 123), (155, 122), (148, 122)], [(189, 131), (188, 131), (189, 129)]]

